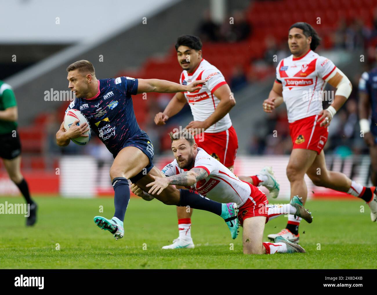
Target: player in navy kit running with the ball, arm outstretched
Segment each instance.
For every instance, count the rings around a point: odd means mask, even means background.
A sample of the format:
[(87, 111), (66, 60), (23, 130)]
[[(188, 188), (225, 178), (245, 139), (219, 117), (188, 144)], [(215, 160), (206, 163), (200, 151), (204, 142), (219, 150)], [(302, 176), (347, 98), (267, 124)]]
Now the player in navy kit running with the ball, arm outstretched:
[[(193, 92), (201, 89), (205, 80), (181, 85), (159, 79), (135, 79), (118, 77), (97, 79), (95, 70), (89, 61), (80, 60), (67, 67), (69, 89), (76, 99), (68, 109), (80, 110), (87, 118), (91, 129), (113, 154), (114, 162), (110, 168), (110, 178), (115, 192), (115, 213), (112, 219), (96, 216), (94, 222), (110, 231), (116, 240), (124, 236), (123, 220), (130, 200), (128, 179), (144, 191), (149, 191), (147, 184), (155, 177), (164, 177), (153, 166), (153, 145), (148, 135), (140, 129), (133, 112), (131, 95), (145, 92)], [(69, 130), (64, 124), (56, 133), (59, 146), (66, 146), (71, 139), (85, 136), (89, 131), (87, 123), (76, 125)], [(86, 135), (87, 136), (87, 135)], [(192, 175), (201, 179), (201, 175)], [(235, 203), (218, 203), (207, 199), (192, 190), (178, 190), (169, 185), (159, 195), (146, 195), (144, 199), (155, 197), (166, 205), (190, 206), (190, 208), (213, 212), (221, 216), (230, 229), (232, 238), (238, 235), (238, 206)]]

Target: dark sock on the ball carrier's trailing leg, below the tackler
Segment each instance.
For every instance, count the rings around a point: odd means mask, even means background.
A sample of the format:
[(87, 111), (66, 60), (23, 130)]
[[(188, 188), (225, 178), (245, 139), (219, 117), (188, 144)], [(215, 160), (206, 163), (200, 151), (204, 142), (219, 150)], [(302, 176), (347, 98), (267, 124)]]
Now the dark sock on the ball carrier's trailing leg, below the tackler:
[(201, 194), (193, 190), (180, 189), (179, 191), (181, 193), (181, 199), (179, 200), (178, 206), (190, 206), (190, 208), (193, 209), (205, 210), (221, 216), (221, 203), (203, 197)]

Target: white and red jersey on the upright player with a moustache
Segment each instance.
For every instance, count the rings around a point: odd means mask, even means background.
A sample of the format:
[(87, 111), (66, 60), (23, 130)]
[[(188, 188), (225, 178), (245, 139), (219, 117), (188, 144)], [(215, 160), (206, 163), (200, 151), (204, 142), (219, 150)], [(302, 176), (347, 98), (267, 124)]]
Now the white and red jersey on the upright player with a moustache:
[[(179, 79), (179, 83), (182, 85), (188, 85), (195, 80), (208, 79), (207, 83), (202, 86), (202, 89), (195, 92), (183, 92), (187, 102), (191, 107), (191, 112), (194, 117), (194, 121), (204, 121), (213, 112), (220, 100), (213, 94), (220, 86), (227, 84), (222, 73), (215, 66), (211, 65), (205, 59), (199, 63), (195, 72), (187, 73), (184, 70)], [(225, 115), (205, 132), (217, 133), (229, 129), (232, 125), (229, 114)]]

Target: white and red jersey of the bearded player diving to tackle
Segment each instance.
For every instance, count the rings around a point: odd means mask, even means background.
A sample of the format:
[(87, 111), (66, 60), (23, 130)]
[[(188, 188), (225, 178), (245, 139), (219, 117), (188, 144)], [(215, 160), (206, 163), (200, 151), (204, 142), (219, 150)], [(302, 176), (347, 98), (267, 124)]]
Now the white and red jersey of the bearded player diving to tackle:
[[(250, 196), (250, 185), (239, 180), (227, 167), (207, 154), (202, 148), (198, 148), (194, 167), (203, 168), (208, 173), (205, 179), (199, 180), (192, 186), (202, 196), (220, 203), (233, 202), (238, 206), (244, 205), (247, 199), (251, 199), (256, 205)], [(162, 169), (165, 176), (173, 176), (184, 171), (187, 170), (179, 168), (176, 159)]]

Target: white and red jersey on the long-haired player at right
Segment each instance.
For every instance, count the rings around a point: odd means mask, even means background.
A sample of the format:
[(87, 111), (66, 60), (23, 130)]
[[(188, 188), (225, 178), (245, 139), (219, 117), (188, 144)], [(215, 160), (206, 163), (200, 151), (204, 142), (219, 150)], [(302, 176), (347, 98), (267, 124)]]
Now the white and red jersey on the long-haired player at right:
[(322, 111), (320, 91), (326, 86), (325, 79), (335, 69), (331, 60), (312, 50), (303, 57), (291, 55), (279, 62), (276, 79), (283, 85), (283, 99), (290, 123)]

